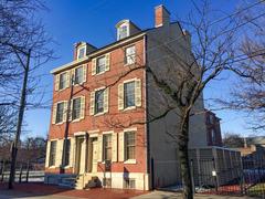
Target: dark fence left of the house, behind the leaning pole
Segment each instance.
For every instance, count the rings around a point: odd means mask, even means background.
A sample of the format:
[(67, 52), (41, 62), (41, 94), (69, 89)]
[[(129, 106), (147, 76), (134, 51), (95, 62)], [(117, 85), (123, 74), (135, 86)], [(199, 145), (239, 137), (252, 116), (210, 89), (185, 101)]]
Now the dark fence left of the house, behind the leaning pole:
[[(9, 180), (10, 161), (0, 161), (0, 181)], [(39, 163), (17, 163), (15, 178), (17, 182), (42, 182), (44, 181), (44, 164)]]

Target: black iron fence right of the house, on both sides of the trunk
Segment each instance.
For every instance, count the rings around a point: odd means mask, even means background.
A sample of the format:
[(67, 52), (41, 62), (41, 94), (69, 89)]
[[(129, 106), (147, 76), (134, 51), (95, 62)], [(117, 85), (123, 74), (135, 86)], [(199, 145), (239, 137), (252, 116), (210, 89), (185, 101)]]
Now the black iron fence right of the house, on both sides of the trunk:
[[(255, 196), (265, 198), (265, 159), (191, 159), (195, 192), (211, 195)], [(177, 160), (153, 160), (153, 187), (182, 190), (180, 165)], [(172, 172), (172, 170), (176, 170)], [(174, 175), (172, 175), (174, 174)], [(168, 178), (165, 178), (165, 175)], [(162, 178), (160, 178), (160, 176)], [(177, 179), (177, 180), (176, 180)], [(172, 186), (168, 186), (172, 185)]]

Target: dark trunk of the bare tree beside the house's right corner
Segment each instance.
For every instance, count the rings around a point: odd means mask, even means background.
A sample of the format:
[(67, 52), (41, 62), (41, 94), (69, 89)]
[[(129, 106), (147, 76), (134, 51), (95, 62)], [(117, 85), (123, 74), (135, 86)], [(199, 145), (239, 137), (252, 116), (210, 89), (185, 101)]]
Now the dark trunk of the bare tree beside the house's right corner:
[(181, 118), (181, 127), (179, 133), (179, 159), (183, 185), (183, 198), (193, 199), (192, 179), (190, 172), (188, 145), (189, 145), (189, 113)]

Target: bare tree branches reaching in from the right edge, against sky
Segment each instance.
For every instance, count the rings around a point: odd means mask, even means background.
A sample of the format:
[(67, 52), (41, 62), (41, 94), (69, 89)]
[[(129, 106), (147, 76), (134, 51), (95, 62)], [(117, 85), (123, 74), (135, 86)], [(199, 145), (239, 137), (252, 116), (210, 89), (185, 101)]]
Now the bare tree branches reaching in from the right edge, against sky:
[(221, 101), (231, 108), (245, 112), (254, 130), (265, 129), (265, 17), (253, 21), (255, 14), (263, 13), (264, 9), (263, 2), (259, 8), (241, 15), (242, 22), (252, 21), (239, 43), (239, 52), (245, 54), (246, 59), (232, 67), (240, 76), (231, 91), (232, 97)]

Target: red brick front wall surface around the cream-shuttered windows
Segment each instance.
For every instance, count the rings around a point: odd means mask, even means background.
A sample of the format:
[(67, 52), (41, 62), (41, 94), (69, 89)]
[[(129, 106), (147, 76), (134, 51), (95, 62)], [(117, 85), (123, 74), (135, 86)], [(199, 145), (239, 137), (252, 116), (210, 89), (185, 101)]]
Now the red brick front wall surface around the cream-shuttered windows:
[[(136, 41), (136, 53), (137, 53), (137, 64), (144, 65), (144, 39)], [(109, 85), (116, 82), (120, 74), (125, 71), (130, 70), (130, 66), (124, 65), (124, 50), (121, 48), (115, 49), (110, 52), (110, 70), (105, 72), (100, 75), (92, 76), (92, 63), (91, 61), (87, 64), (87, 74), (86, 74), (86, 82), (84, 86), (74, 86), (74, 96), (85, 96), (85, 118), (80, 122), (70, 123), (68, 126), (68, 137), (73, 137), (74, 133), (77, 132), (87, 132), (87, 130), (95, 130), (98, 129), (100, 132), (108, 132), (114, 130), (115, 133), (123, 132), (123, 128), (113, 127), (108, 124), (106, 125), (106, 121), (108, 119), (116, 119), (124, 126), (129, 126), (131, 123), (131, 118), (137, 118), (141, 121), (145, 118), (145, 86), (142, 86), (141, 97), (142, 103), (141, 107), (138, 107), (132, 111), (118, 111), (118, 84), (123, 83), (125, 80), (129, 78), (140, 78), (141, 85), (145, 85), (145, 71), (144, 70), (136, 70), (125, 77), (123, 77), (118, 83), (109, 87), (109, 109), (108, 113), (100, 115), (100, 116), (91, 116), (89, 115), (89, 101), (91, 101), (91, 91), (95, 88), (102, 87), (104, 85)], [(66, 88), (64, 91), (53, 92), (53, 103), (60, 101), (67, 101), (70, 100), (71, 90)], [(63, 138), (65, 132), (65, 124), (50, 125), (50, 134), (49, 138)], [(121, 172), (124, 170), (128, 170), (130, 172), (144, 172), (146, 171), (146, 138), (145, 138), (145, 125), (134, 125), (137, 127), (137, 146), (136, 146), (136, 160), (137, 165), (126, 165), (124, 166), (123, 163), (114, 163), (113, 164), (113, 171)], [(99, 167), (102, 167), (99, 165)], [(99, 168), (98, 168), (99, 169)], [(99, 169), (100, 170), (100, 169)], [(99, 171), (98, 170), (98, 171)]]

